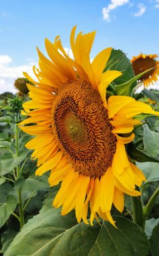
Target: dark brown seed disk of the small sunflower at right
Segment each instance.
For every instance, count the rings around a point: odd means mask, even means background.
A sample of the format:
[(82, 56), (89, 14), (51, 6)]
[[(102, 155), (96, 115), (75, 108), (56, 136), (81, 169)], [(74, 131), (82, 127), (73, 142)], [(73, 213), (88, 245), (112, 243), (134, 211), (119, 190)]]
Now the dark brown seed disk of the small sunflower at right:
[[(155, 68), (156, 61), (154, 59), (151, 59), (150, 57), (146, 57), (145, 59), (140, 58), (140, 59), (136, 59), (136, 61), (132, 63), (132, 67), (134, 69), (135, 75), (138, 75), (146, 71), (147, 69), (151, 69), (152, 67)], [(150, 75), (154, 73), (154, 71), (155, 69), (148, 71), (147, 73), (145, 73), (140, 77), (140, 80), (147, 79), (148, 77), (150, 77)]]

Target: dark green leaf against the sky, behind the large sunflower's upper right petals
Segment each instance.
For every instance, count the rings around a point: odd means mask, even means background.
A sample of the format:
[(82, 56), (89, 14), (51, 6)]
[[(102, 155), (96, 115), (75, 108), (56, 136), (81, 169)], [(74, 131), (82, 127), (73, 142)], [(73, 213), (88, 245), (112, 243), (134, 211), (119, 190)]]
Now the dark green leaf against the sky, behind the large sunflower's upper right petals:
[(134, 77), (134, 70), (131, 66), (131, 62), (121, 50), (112, 49), (111, 55), (103, 72), (107, 70), (117, 70), (123, 73), (113, 81), (115, 84), (123, 84)]

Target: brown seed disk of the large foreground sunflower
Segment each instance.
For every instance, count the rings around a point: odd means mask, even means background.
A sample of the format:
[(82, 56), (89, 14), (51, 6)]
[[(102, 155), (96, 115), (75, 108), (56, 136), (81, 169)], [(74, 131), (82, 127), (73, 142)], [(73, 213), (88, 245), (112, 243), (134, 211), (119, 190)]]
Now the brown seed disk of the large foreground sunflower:
[(84, 79), (58, 90), (52, 129), (60, 150), (79, 173), (101, 177), (112, 165), (117, 139), (99, 92)]

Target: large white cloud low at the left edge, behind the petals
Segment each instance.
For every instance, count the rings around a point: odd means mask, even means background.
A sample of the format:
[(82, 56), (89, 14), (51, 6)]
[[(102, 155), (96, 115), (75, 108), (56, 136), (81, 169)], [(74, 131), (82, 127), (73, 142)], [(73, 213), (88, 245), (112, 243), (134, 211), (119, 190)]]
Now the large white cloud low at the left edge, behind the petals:
[(28, 72), (32, 77), (34, 73), (32, 66), (35, 63), (28, 63), (28, 65), (13, 65), (13, 60), (8, 55), (0, 55), (0, 94), (3, 92), (13, 92), (16, 90), (13, 86), (17, 77), (23, 77), (23, 71)]

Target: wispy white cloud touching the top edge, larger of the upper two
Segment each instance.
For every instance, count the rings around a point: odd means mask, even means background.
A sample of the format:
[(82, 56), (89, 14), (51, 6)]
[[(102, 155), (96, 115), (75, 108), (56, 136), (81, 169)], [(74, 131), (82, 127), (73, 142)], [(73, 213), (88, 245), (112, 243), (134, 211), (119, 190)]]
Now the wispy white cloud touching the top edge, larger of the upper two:
[(118, 6), (125, 5), (125, 3), (128, 2), (129, 0), (111, 0), (111, 3), (109, 3), (107, 7), (103, 7), (102, 9), (103, 20), (107, 20), (107, 22), (109, 22), (109, 13)]

